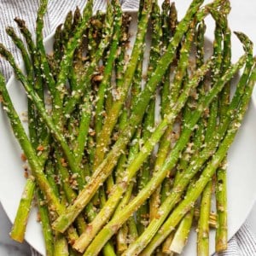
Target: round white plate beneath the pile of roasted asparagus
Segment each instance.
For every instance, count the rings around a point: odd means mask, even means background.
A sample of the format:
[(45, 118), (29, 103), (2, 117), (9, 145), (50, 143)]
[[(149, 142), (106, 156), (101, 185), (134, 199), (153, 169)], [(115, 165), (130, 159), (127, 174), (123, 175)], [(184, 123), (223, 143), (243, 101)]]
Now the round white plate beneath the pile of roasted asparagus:
[[(180, 3), (182, 2), (182, 3)], [(250, 15), (245, 15), (231, 1), (233, 8), (230, 15), (230, 26), (232, 30), (241, 30), (247, 32), (252, 36), (253, 41), (256, 42), (255, 35), (251, 27), (256, 22), (250, 19)], [(177, 1), (177, 9), (179, 16), (184, 14), (190, 0)], [(250, 8), (247, 7), (250, 5)], [(256, 4), (253, 0), (246, 0), (242, 4), (242, 8), (247, 9), (247, 14), (252, 14), (252, 9), (255, 10)], [(240, 7), (240, 6), (239, 6)], [(235, 11), (235, 12), (234, 12)], [(242, 17), (241, 17), (242, 16)], [(237, 18), (238, 17), (238, 18)], [(240, 18), (239, 18), (240, 17)], [(233, 19), (233, 21), (232, 21)], [(241, 22), (237, 20), (243, 20)], [(232, 26), (235, 25), (235, 27)], [(238, 25), (238, 26), (237, 26)], [(212, 24), (209, 24), (211, 27)], [(241, 27), (239, 27), (241, 26)], [(213, 27), (213, 26), (212, 26)], [(212, 34), (207, 34), (212, 38)], [(52, 43), (51, 37), (46, 40), (47, 48), (50, 48)], [(234, 39), (233, 44), (234, 58), (236, 59), (241, 54), (241, 46)], [(18, 113), (26, 110), (26, 96), (24, 95), (21, 86), (14, 77), (9, 80), (9, 93), (15, 102), (15, 108)], [(255, 90), (254, 90), (255, 92)], [(228, 168), (228, 210), (229, 210), (229, 237), (233, 236), (236, 231), (241, 227), (241, 224), (247, 218), (248, 212), (253, 206), (256, 197), (256, 92), (254, 93), (253, 102), (247, 112), (247, 116), (241, 126), (236, 142), (230, 148), (229, 153), (229, 168)], [(3, 204), (10, 220), (13, 222), (15, 219), (15, 212), (20, 201), (25, 178), (23, 177), (23, 163), (20, 160), (20, 147), (16, 143), (15, 138), (10, 130), (9, 121), (3, 111), (0, 111), (0, 201)], [(189, 244), (185, 249), (184, 255), (195, 255), (195, 232), (189, 238)], [(36, 211), (33, 209), (26, 229), (26, 241), (32, 247), (35, 247), (39, 253), (44, 254), (44, 240), (41, 232), (40, 225), (36, 222)], [(211, 237), (211, 252), (214, 252), (214, 237)]]

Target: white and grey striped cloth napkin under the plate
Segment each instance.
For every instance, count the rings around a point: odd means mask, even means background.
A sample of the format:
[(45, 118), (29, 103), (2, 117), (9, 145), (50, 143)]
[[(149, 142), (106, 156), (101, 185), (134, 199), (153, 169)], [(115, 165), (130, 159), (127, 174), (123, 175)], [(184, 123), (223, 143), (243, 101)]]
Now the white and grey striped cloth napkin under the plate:
[[(138, 9), (138, 0), (121, 0), (123, 9)], [(17, 61), (21, 61), (21, 56), (15, 50), (9, 37), (5, 33), (6, 26), (14, 26), (14, 18), (19, 16), (26, 20), (27, 26), (31, 31), (35, 29), (35, 20), (38, 10), (39, 0), (0, 0), (0, 42), (8, 45), (9, 50), (15, 55)], [(84, 0), (50, 0), (48, 13), (45, 19), (44, 37), (55, 31), (56, 26), (63, 22), (69, 10), (74, 10), (77, 6), (84, 8)], [(95, 0), (94, 9), (104, 9), (106, 0)], [(0, 70), (6, 79), (12, 74), (9, 64), (0, 59)], [(31, 248), (32, 256), (40, 254)], [(243, 224), (241, 229), (230, 239), (228, 250), (224, 253), (215, 254), (214, 256), (255, 256), (256, 240), (247, 224)]]

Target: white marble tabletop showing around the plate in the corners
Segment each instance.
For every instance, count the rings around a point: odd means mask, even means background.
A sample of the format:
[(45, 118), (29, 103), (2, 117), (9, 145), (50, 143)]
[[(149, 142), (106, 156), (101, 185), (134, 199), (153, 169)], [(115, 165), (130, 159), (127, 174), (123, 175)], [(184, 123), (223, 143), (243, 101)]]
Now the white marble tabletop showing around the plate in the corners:
[[(189, 6), (190, 0), (176, 1), (177, 9), (179, 10), (179, 16), (182, 17), (186, 7)], [(209, 1), (206, 1), (206, 3)], [(231, 0), (231, 13), (230, 13), (230, 28), (232, 31), (242, 31), (252, 39), (256, 44), (256, 1), (255, 0)], [(182, 6), (183, 8), (179, 8)], [(212, 38), (212, 34), (207, 35)], [(235, 61), (239, 55), (241, 55), (240, 43), (233, 37), (233, 49), (236, 49), (233, 55)], [(254, 51), (255, 52), (255, 51)], [(234, 53), (234, 51), (233, 51)], [(255, 92), (255, 91), (254, 91)], [(256, 117), (255, 117), (256, 118)], [(256, 127), (255, 127), (256, 132)], [(255, 170), (256, 172), (256, 170)], [(253, 211), (248, 217), (248, 224), (251, 225), (254, 235), (256, 236), (256, 205), (253, 207)], [(9, 240), (10, 224), (8, 218), (5, 216), (2, 207), (0, 207), (0, 255), (29, 255), (28, 247), (19, 246), (17, 243)], [(11, 244), (10, 246), (6, 246)]]

